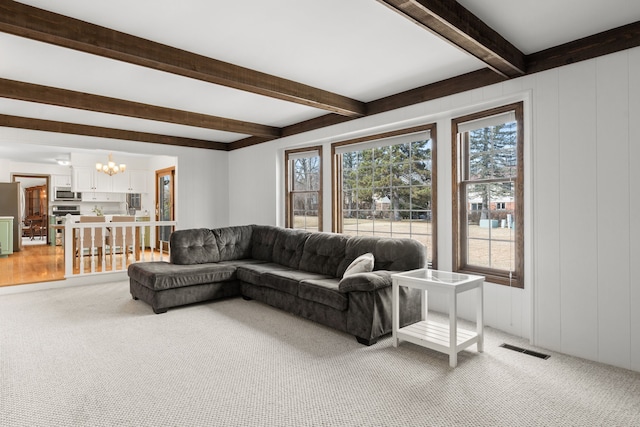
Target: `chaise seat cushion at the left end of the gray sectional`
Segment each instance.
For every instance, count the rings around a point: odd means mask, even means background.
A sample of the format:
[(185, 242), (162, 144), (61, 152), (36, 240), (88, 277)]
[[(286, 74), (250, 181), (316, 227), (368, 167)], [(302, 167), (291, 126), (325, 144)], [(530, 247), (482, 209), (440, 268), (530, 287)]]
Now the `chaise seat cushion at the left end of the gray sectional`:
[(128, 269), (129, 277), (154, 291), (226, 282), (236, 279), (236, 267), (217, 263), (176, 265), (162, 261), (138, 262)]

